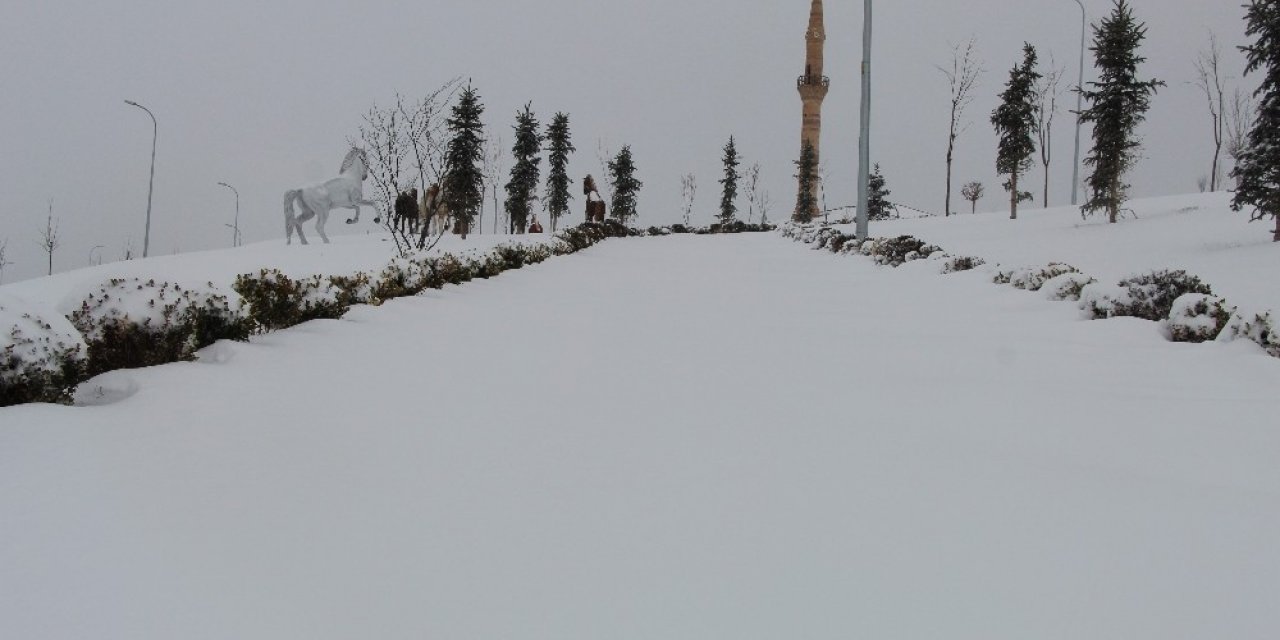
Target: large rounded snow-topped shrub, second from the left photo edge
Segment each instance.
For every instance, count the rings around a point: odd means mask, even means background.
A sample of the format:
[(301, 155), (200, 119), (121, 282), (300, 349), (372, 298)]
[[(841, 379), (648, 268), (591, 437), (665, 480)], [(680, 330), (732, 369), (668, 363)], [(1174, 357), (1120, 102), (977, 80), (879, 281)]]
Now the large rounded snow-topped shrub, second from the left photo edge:
[(113, 279), (69, 316), (88, 346), (86, 375), (192, 360), (218, 340), (247, 340), (253, 323), (239, 298), (212, 283), (200, 289)]

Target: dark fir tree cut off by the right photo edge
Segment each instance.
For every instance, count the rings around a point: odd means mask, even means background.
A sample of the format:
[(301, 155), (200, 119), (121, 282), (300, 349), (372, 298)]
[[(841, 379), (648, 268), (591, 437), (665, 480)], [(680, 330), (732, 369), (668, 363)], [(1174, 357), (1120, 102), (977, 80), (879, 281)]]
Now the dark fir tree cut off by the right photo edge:
[(1257, 118), (1231, 169), (1236, 182), (1231, 209), (1253, 207), (1253, 220), (1275, 219), (1274, 239), (1280, 242), (1280, 1), (1253, 0), (1245, 9), (1245, 35), (1256, 40), (1240, 47), (1248, 60), (1244, 73), (1263, 76), (1253, 92)]

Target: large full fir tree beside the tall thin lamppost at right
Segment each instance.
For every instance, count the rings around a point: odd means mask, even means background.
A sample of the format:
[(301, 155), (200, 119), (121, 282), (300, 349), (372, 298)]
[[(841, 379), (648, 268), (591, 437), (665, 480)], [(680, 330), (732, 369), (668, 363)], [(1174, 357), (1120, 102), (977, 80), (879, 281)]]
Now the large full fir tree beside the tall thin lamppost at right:
[(1140, 142), (1135, 131), (1147, 119), (1151, 96), (1165, 86), (1158, 79), (1138, 79), (1138, 65), (1147, 60), (1138, 55), (1138, 47), (1146, 37), (1147, 26), (1134, 20), (1128, 0), (1116, 0), (1111, 15), (1093, 27), (1089, 50), (1098, 79), (1088, 83), (1092, 88), (1080, 90), (1089, 102), (1080, 122), (1093, 123), (1093, 150), (1084, 159), (1093, 173), (1085, 178), (1088, 200), (1080, 211), (1106, 211), (1111, 223), (1120, 218), (1128, 200), (1124, 174), (1138, 161)]

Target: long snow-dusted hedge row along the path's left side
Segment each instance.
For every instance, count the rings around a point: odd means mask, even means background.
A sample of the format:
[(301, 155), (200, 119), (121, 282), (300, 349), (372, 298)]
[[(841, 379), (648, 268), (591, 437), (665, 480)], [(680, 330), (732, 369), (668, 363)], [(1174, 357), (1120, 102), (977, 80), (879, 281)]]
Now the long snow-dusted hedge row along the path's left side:
[[(641, 230), (608, 220), (563, 229), (545, 244), (512, 243), (488, 252), (396, 257), (376, 273), (296, 279), (264, 269), (237, 276), (230, 291), (214, 283), (191, 289), (159, 280), (114, 279), (65, 319), (19, 316), (0, 342), (5, 344), (0, 349), (0, 406), (68, 403), (79, 383), (106, 371), (189, 361), (218, 340), (243, 342), (308, 320), (338, 319), (352, 305), (381, 305), (445, 284), (493, 278), (607, 238), (773, 229), (732, 223)], [(0, 301), (0, 316), (12, 315), (4, 311)]]

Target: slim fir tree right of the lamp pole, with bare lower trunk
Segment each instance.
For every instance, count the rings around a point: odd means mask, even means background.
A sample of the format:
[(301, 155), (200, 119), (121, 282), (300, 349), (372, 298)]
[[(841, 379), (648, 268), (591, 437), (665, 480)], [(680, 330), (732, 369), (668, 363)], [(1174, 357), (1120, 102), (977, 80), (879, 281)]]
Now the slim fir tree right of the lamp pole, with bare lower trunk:
[(1000, 145), (996, 151), (996, 173), (1009, 175), (1005, 191), (1009, 192), (1009, 219), (1018, 219), (1018, 204), (1032, 200), (1029, 191), (1018, 188), (1018, 178), (1032, 168), (1032, 154), (1036, 152), (1038, 93), (1036, 83), (1041, 74), (1036, 70), (1036, 47), (1023, 44), (1023, 63), (1009, 72), (1009, 83), (1000, 95), (1000, 106), (991, 113), (991, 124), (996, 127)]

